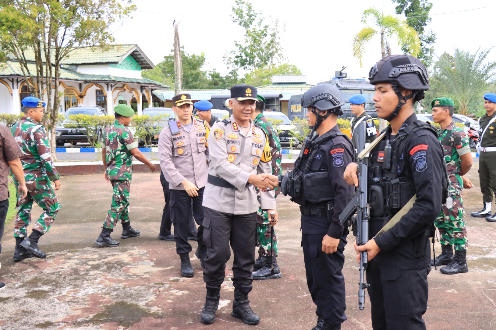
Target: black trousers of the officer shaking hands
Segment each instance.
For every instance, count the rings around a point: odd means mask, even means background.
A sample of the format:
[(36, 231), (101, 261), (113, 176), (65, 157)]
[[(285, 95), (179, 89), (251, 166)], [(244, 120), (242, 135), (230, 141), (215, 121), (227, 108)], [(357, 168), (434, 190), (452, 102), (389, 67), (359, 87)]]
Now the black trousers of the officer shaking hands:
[(226, 275), (226, 263), (233, 248), (233, 284), (240, 289), (249, 287), (253, 278), (256, 243), (256, 213), (234, 215), (205, 208), (203, 241), (207, 257), (203, 280), (207, 287), (220, 287)]

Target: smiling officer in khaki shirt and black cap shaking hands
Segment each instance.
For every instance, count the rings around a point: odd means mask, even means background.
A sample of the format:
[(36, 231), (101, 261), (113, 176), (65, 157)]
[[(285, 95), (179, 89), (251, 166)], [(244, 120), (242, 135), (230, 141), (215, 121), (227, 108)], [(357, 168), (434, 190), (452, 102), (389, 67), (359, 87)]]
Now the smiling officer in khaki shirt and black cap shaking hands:
[(274, 212), (271, 224), (277, 222), (274, 188), (278, 179), (272, 175), (270, 147), (264, 131), (256, 127), (251, 116), (255, 110), (256, 88), (249, 85), (231, 87), (230, 106), (233, 115), (216, 122), (208, 137), (210, 164), (203, 206), (203, 240), (208, 246), (203, 280), (207, 295), (201, 311), (201, 322), (215, 321), (220, 286), (224, 281), (226, 262), (234, 253), (233, 312), (246, 324), (257, 324), (260, 318), (249, 306), (252, 270), (255, 258), (256, 212), (255, 186), (263, 192), (261, 208)]

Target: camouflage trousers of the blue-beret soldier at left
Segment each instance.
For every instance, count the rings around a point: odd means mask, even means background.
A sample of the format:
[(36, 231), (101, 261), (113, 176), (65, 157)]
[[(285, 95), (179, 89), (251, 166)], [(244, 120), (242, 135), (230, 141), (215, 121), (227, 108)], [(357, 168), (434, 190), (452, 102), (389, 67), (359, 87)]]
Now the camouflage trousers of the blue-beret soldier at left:
[[(15, 187), (19, 186), (19, 182), (14, 180)], [(55, 221), (55, 217), (61, 208), (61, 204), (52, 189), (52, 185), (48, 180), (42, 181), (26, 181), (28, 195), (22, 201), (17, 199), (17, 216), (14, 222), (14, 237), (27, 237), (26, 228), (31, 223), (31, 208), (33, 202), (36, 202), (43, 209), (38, 221), (33, 227), (42, 234), (50, 230), (50, 226)]]

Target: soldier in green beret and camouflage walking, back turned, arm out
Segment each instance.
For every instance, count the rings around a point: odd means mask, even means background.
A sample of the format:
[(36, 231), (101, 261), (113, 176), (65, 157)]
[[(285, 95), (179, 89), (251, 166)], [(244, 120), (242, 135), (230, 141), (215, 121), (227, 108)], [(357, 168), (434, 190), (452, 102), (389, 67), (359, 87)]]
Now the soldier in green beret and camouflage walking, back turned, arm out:
[(120, 104), (114, 108), (116, 121), (112, 127), (105, 131), (105, 148), (102, 148), (102, 160), (105, 167), (104, 178), (110, 180), (114, 188), (112, 195), (112, 206), (107, 218), (103, 223), (102, 232), (96, 240), (100, 246), (115, 247), (119, 241), (110, 237), (118, 220), (123, 225), (121, 238), (139, 236), (140, 231), (131, 227), (129, 221), (129, 189), (132, 176), (132, 156), (138, 161), (148, 165), (152, 172), (155, 165), (147, 160), (138, 149), (138, 143), (134, 141), (131, 131), (127, 128), (131, 122), (134, 110), (131, 107)]

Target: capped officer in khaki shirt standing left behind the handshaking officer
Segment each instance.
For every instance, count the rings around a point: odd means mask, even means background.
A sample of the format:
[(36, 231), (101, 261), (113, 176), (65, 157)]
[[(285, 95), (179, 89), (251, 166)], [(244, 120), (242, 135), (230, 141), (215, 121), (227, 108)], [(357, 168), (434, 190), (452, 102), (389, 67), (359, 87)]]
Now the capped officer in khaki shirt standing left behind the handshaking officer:
[[(174, 224), (176, 252), (181, 257), (181, 276), (193, 277), (189, 262), (191, 245), (187, 241), (191, 207), (193, 217), (199, 224), (197, 232), (198, 248), (196, 257), (203, 259), (207, 247), (203, 243), (203, 190), (207, 183), (207, 127), (201, 120), (192, 117), (193, 102), (189, 94), (179, 94), (172, 98), (172, 110), (178, 120), (168, 120), (160, 132), (158, 157), (165, 179), (169, 182), (171, 220)], [(192, 202), (192, 204), (191, 204)]]

